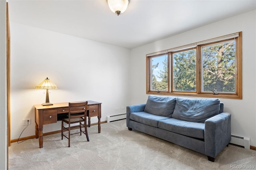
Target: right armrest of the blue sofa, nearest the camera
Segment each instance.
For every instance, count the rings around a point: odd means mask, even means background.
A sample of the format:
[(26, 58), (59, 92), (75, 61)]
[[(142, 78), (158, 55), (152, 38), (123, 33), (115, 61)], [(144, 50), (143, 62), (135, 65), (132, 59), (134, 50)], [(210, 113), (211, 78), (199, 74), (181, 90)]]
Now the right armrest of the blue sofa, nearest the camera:
[(204, 123), (205, 154), (215, 158), (231, 140), (231, 114), (223, 112)]

